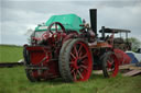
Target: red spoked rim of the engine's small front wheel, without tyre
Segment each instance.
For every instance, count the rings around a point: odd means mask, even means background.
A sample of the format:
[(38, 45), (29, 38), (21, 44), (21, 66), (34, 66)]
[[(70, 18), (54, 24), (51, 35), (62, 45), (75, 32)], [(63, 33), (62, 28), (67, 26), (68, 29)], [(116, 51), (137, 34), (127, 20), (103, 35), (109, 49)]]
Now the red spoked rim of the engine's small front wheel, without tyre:
[(107, 72), (109, 77), (116, 77), (118, 73), (118, 59), (112, 54), (107, 59)]

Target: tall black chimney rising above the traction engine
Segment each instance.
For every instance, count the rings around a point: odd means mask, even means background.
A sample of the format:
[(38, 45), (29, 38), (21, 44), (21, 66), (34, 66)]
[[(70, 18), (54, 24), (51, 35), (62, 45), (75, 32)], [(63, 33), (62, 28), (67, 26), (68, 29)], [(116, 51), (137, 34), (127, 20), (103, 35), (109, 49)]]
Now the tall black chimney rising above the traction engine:
[(97, 9), (90, 9), (89, 15), (90, 15), (91, 28), (93, 28), (94, 33), (97, 35)]

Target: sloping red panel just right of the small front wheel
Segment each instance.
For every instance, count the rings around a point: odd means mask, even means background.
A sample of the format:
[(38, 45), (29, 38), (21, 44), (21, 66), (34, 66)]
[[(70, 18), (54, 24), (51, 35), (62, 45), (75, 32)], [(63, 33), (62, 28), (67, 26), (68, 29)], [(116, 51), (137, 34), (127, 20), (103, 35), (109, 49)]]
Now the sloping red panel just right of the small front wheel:
[(113, 49), (118, 60), (119, 60), (119, 65), (126, 65), (126, 63), (130, 63), (131, 58), (121, 49)]

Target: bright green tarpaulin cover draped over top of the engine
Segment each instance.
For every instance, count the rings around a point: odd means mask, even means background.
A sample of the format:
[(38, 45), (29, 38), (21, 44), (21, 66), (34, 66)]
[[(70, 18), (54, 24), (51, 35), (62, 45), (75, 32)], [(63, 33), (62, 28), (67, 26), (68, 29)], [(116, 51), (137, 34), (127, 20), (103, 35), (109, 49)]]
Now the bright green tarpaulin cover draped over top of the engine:
[(83, 24), (82, 19), (76, 14), (53, 15), (45, 24), (35, 27), (35, 31), (46, 31), (47, 26), (53, 22), (62, 23), (66, 31), (76, 31), (78, 33), (82, 30), (79, 25)]

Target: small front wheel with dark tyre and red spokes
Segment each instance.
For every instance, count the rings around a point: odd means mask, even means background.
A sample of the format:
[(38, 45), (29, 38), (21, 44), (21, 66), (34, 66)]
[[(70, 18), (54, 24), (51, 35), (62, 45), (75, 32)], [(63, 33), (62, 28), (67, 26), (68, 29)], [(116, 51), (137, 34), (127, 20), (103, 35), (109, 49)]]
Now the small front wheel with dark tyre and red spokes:
[(102, 58), (102, 72), (105, 78), (116, 77), (119, 70), (119, 63), (112, 51), (106, 53)]

